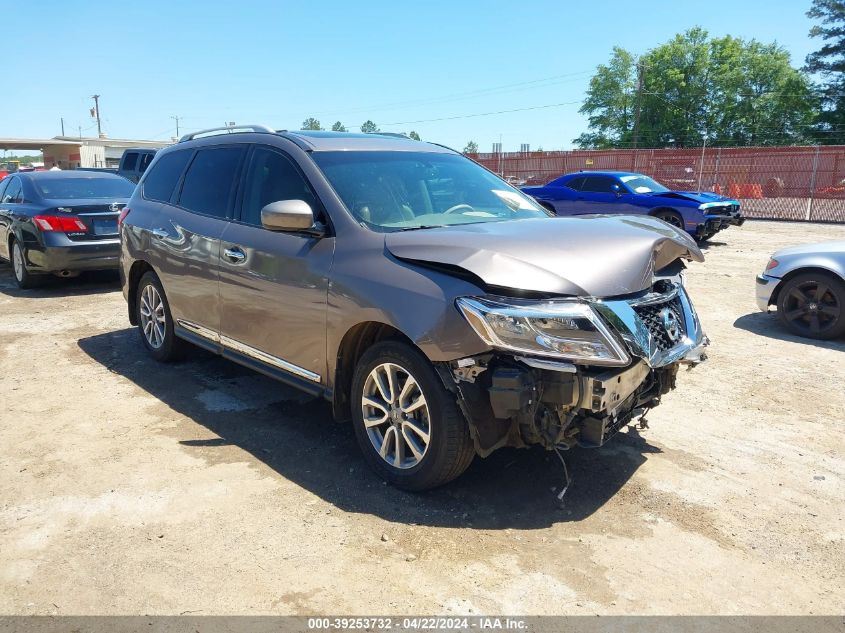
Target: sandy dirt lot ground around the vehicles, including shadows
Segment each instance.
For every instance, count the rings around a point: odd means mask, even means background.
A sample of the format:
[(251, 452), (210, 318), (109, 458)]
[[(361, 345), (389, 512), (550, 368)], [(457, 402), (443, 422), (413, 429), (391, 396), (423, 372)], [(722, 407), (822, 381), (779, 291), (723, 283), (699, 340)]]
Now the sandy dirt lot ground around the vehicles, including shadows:
[(693, 264), (713, 340), (650, 429), (383, 485), (327, 407), (196, 351), (148, 359), (110, 277), (0, 267), (0, 613), (839, 614), (845, 341), (755, 312), (755, 222)]

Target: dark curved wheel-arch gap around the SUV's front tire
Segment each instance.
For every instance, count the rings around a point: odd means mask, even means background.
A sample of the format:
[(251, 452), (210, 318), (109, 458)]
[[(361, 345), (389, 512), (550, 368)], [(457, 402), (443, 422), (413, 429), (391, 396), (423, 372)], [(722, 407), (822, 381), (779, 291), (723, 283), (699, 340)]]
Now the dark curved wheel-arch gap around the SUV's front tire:
[[(352, 376), (358, 360), (370, 347), (381, 341), (401, 341), (420, 351), (419, 347), (396, 327), (380, 321), (364, 321), (349, 328), (337, 348), (332, 389), (332, 413), (336, 420), (349, 420)], [(423, 354), (425, 355), (425, 354)]]

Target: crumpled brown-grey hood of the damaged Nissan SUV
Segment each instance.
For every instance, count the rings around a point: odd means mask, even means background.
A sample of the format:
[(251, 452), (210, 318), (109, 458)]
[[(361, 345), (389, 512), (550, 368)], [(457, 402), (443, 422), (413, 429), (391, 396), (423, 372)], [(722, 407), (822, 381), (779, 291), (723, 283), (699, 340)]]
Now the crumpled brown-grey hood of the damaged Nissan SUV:
[(686, 233), (647, 216), (486, 222), (388, 233), (396, 257), (462, 268), (485, 284), (550, 294), (613, 297), (651, 287), (678, 258), (704, 261)]

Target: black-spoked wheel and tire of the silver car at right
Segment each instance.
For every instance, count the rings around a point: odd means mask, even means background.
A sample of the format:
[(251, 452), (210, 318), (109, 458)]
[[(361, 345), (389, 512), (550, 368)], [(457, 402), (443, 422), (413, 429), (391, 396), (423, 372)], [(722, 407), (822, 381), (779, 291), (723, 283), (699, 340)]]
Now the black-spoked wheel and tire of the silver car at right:
[(806, 272), (778, 293), (778, 316), (798, 336), (832, 339), (845, 334), (845, 282), (824, 272)]

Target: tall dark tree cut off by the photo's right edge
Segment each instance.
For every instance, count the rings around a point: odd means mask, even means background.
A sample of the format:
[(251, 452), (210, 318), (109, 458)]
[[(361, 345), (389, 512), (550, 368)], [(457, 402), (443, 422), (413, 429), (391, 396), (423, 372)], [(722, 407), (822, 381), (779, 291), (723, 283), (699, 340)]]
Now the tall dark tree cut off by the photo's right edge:
[(821, 143), (839, 143), (845, 133), (845, 2), (813, 0), (807, 17), (821, 22), (810, 29), (810, 37), (823, 42), (807, 55), (804, 66), (821, 80), (821, 109), (813, 133)]

